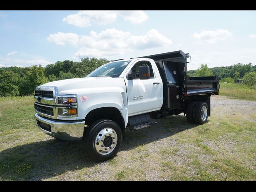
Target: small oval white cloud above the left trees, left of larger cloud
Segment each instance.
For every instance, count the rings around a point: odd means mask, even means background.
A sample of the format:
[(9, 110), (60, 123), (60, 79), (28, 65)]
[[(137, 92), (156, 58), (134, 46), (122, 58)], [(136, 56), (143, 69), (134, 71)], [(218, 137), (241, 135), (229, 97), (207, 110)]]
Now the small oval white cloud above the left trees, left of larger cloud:
[(48, 41), (54, 42), (58, 45), (65, 45), (67, 44), (72, 44), (72, 45), (77, 45), (79, 41), (79, 36), (75, 33), (62, 33), (58, 32), (55, 34), (50, 34), (47, 37)]

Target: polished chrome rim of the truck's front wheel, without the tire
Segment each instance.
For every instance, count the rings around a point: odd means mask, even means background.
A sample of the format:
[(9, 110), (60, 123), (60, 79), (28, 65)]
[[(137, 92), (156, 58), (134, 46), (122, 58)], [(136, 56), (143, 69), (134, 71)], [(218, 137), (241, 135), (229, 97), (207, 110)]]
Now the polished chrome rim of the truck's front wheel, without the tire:
[(112, 128), (102, 129), (95, 138), (96, 151), (101, 155), (110, 154), (117, 143), (117, 134)]

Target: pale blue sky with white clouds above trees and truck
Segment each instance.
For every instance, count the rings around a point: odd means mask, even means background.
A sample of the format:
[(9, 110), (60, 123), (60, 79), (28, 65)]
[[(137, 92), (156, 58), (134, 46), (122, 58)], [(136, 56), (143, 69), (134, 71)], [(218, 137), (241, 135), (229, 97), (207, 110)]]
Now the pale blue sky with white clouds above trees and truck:
[(0, 11), (0, 67), (177, 50), (188, 70), (256, 65), (256, 11)]

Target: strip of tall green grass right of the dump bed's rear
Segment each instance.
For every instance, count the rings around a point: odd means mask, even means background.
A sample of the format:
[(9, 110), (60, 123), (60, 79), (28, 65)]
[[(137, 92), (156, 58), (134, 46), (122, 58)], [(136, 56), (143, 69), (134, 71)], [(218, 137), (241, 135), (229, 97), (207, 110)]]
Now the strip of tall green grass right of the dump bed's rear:
[(256, 86), (249, 87), (240, 83), (220, 83), (220, 95), (256, 101)]

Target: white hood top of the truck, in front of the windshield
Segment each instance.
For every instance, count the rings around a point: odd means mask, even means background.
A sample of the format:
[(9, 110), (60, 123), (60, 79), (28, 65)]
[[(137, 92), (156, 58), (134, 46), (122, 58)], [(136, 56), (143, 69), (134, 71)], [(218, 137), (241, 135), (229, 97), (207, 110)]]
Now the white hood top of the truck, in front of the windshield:
[(54, 86), (58, 88), (58, 94), (74, 94), (81, 89), (100, 89), (100, 88), (121, 88), (123, 92), (126, 92), (126, 86), (124, 78), (112, 78), (112, 77), (84, 77), (65, 79), (60, 81), (53, 81), (43, 84), (43, 86)]

